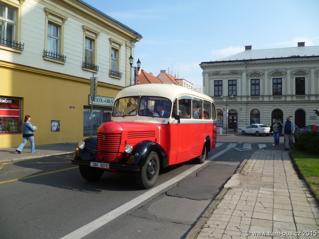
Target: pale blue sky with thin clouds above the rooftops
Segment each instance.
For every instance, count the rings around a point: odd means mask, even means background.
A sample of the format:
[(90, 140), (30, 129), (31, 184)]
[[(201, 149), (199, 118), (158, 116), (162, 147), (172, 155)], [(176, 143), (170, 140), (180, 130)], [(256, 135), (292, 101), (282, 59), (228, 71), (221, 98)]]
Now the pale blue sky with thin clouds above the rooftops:
[(134, 63), (203, 85), (199, 64), (245, 50), (319, 46), (319, 0), (83, 0), (142, 39)]

